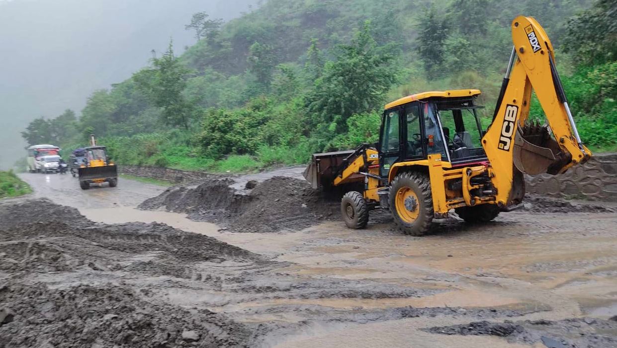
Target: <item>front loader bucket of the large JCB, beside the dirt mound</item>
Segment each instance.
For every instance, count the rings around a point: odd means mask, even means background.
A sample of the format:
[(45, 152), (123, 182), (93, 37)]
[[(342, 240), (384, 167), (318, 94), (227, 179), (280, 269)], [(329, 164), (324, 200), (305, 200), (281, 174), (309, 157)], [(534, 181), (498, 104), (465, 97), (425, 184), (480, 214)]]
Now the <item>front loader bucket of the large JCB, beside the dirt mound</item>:
[(326, 153), (313, 153), (309, 166), (304, 170), (304, 178), (316, 189), (322, 187), (329, 190), (333, 180), (337, 176), (341, 164), (355, 151), (338, 151)]

